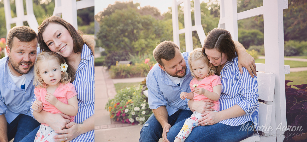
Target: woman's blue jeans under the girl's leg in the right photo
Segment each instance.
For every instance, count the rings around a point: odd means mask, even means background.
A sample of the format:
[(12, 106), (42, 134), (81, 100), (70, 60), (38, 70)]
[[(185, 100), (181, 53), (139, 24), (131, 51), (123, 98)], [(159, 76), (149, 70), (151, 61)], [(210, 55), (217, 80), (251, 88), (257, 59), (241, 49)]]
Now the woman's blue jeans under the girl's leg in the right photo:
[[(167, 139), (173, 142), (181, 130), (185, 120), (174, 125), (167, 133)], [(243, 126), (243, 127), (242, 127)], [(242, 128), (241, 128), (242, 127)], [(241, 129), (240, 129), (241, 128)], [(185, 139), (187, 142), (237, 142), (253, 135), (254, 124), (251, 121), (239, 126), (229, 126), (216, 123), (207, 126), (197, 126), (193, 128), (190, 135)]]

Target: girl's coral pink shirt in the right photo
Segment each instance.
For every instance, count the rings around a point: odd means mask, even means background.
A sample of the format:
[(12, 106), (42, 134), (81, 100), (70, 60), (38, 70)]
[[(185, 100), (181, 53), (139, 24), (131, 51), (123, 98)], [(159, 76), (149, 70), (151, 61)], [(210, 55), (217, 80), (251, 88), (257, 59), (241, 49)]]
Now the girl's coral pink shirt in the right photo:
[[(211, 75), (208, 77), (205, 77), (203, 80), (198, 81), (196, 77), (190, 82), (190, 89), (191, 92), (193, 92), (194, 88), (192, 87), (194, 84), (198, 84), (197, 88), (204, 88), (207, 89), (208, 91), (212, 92), (213, 89), (212, 87), (221, 84), (221, 78), (217, 75)], [(194, 101), (200, 101), (200, 100), (208, 100), (209, 98), (205, 97), (204, 95), (196, 94), (194, 93), (193, 97)], [(219, 101), (213, 101), (215, 106), (211, 107), (214, 108), (216, 111), (220, 111), (220, 102)]]

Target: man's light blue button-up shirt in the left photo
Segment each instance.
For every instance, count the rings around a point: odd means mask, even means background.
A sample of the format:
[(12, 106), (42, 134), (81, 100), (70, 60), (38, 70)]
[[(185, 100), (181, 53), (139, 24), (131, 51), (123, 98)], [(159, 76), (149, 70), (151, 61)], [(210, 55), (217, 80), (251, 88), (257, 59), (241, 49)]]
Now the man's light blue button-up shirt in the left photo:
[(25, 89), (21, 89), (14, 84), (7, 72), (8, 62), (8, 57), (0, 59), (0, 115), (4, 114), (6, 121), (11, 123), (19, 114), (32, 116), (30, 105), (34, 97), (34, 75), (32, 68), (25, 75)]

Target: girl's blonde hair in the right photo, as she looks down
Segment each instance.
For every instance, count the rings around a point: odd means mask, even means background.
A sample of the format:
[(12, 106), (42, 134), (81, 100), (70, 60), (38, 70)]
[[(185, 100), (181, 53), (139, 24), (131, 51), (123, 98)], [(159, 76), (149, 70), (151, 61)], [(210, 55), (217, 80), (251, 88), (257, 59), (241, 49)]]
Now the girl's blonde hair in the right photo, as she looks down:
[[(209, 59), (206, 55), (204, 55), (204, 53), (202, 52), (202, 49), (196, 48), (193, 51), (191, 51), (190, 54), (189, 54), (189, 68), (190, 68), (190, 71), (191, 71), (191, 74), (192, 74), (192, 78), (196, 77), (196, 79), (199, 79), (199, 77), (197, 77), (194, 74), (193, 69), (192, 69), (192, 65), (191, 65), (191, 63), (193, 61), (196, 61), (196, 60), (202, 60), (208, 65), (209, 73), (206, 75), (206, 77), (211, 76), (211, 75), (216, 73), (216, 68), (212, 64), (209, 63)], [(211, 65), (211, 67), (210, 67), (210, 65)]]

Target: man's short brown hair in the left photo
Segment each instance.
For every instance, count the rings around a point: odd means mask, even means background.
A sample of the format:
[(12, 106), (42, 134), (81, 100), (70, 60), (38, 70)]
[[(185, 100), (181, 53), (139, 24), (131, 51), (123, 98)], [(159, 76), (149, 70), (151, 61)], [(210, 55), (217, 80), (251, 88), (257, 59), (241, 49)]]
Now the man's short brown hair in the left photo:
[(14, 37), (21, 42), (29, 42), (37, 38), (37, 35), (33, 29), (27, 26), (13, 27), (7, 35), (7, 45), (10, 49), (13, 47)]

